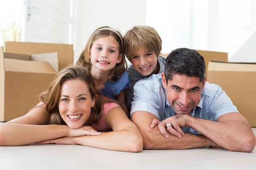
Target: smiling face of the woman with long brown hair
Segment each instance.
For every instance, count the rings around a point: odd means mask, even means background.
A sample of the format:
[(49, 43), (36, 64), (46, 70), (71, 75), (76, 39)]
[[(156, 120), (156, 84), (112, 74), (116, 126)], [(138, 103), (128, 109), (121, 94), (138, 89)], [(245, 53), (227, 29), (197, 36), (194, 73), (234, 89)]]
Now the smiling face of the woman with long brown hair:
[(90, 122), (94, 103), (95, 99), (92, 99), (88, 85), (82, 80), (67, 80), (62, 84), (58, 108), (62, 119), (70, 128), (81, 128), (85, 122)]

